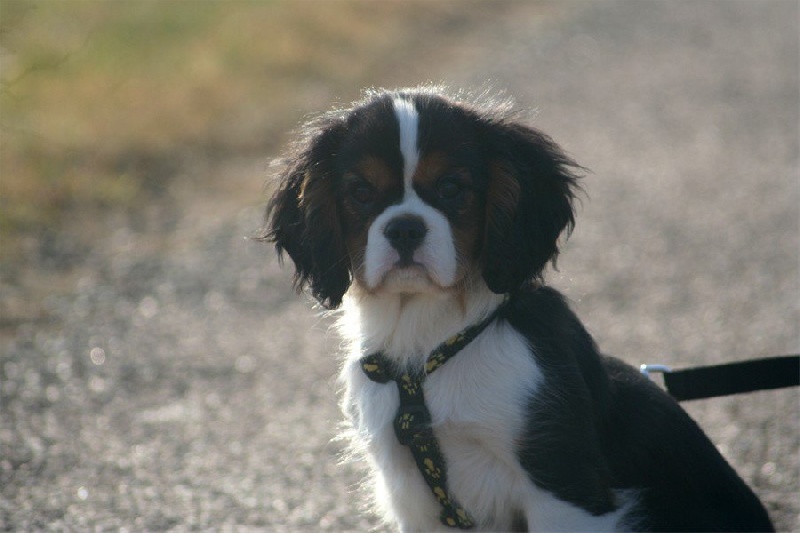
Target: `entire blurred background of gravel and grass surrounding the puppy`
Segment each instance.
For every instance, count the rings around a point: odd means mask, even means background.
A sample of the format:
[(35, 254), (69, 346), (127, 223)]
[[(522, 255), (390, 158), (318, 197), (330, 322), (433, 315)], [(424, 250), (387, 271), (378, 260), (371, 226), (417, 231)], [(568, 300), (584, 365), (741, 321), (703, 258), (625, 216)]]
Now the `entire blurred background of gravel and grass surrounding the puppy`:
[[(0, 0), (0, 529), (365, 530), (330, 320), (248, 240), (366, 87), (505, 92), (591, 169), (601, 348), (800, 349), (796, 1)], [(800, 530), (796, 390), (686, 404)]]

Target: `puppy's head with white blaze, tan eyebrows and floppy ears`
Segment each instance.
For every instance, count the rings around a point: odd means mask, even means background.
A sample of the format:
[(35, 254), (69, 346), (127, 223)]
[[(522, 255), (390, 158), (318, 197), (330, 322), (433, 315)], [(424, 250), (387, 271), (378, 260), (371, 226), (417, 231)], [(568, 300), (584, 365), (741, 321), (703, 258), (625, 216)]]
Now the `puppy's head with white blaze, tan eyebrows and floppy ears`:
[(375, 92), (306, 127), (265, 238), (328, 308), (368, 293), (495, 293), (538, 278), (574, 224), (579, 168), (507, 106), (432, 89)]

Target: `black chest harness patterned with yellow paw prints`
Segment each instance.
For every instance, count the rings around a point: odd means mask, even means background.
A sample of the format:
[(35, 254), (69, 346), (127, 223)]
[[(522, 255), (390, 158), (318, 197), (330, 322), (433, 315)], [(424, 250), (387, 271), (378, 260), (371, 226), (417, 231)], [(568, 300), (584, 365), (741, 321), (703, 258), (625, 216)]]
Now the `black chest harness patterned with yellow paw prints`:
[[(501, 306), (502, 307), (502, 306)], [(403, 446), (407, 446), (414, 457), (417, 469), (431, 489), (434, 498), (442, 506), (441, 522), (450, 527), (470, 529), (475, 522), (469, 514), (453, 500), (447, 488), (447, 467), (439, 442), (431, 427), (431, 414), (425, 406), (423, 384), (425, 377), (440, 368), (462, 348), (472, 342), (497, 317), (498, 307), (479, 324), (468, 327), (440, 344), (425, 363), (424, 373), (411, 374), (399, 370), (383, 352), (376, 352), (361, 359), (361, 369), (369, 379), (377, 383), (394, 381), (400, 397), (400, 407), (394, 420), (394, 433)]]

